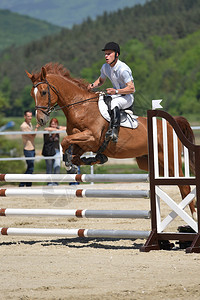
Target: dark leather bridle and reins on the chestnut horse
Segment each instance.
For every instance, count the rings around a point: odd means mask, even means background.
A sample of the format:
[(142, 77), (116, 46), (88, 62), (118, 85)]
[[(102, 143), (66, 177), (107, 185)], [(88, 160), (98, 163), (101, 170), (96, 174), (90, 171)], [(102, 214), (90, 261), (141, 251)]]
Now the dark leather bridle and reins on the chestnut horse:
[(59, 91), (55, 88), (55, 86), (50, 84), (46, 79), (44, 81), (40, 81), (40, 82), (37, 82), (36, 84), (34, 84), (33, 88), (37, 88), (40, 84), (47, 84), (47, 88), (48, 88), (48, 105), (47, 106), (36, 105), (35, 110), (40, 110), (41, 112), (43, 112), (47, 116), (49, 116), (52, 111), (58, 111), (58, 110), (61, 110), (62, 108), (65, 108), (65, 107), (70, 107), (70, 106), (73, 106), (73, 105), (82, 104), (86, 101), (90, 101), (90, 100), (99, 98), (99, 96), (97, 95), (95, 97), (87, 98), (87, 99), (84, 99), (84, 100), (80, 100), (80, 101), (70, 103), (70, 104), (67, 104), (67, 105), (63, 105), (59, 108), (56, 108), (58, 106), (57, 103), (54, 104), (53, 106), (51, 106), (50, 89), (57, 95), (58, 98), (61, 98), (61, 95), (60, 95)]

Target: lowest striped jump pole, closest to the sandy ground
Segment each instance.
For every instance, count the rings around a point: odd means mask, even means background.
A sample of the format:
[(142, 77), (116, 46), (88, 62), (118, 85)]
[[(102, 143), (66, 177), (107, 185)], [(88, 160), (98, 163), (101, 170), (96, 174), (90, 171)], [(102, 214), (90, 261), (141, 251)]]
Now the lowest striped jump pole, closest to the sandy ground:
[(10, 236), (58, 236), (65, 238), (122, 238), (147, 239), (150, 231), (103, 229), (49, 229), (49, 228), (0, 228), (1, 235)]

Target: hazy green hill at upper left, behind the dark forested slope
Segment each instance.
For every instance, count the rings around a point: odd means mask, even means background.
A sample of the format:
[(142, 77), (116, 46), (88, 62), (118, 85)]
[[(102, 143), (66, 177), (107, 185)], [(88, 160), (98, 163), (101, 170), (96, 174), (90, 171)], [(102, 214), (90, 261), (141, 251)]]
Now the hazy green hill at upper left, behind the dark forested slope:
[(25, 45), (60, 30), (61, 27), (46, 21), (0, 10), (0, 51), (11, 45)]

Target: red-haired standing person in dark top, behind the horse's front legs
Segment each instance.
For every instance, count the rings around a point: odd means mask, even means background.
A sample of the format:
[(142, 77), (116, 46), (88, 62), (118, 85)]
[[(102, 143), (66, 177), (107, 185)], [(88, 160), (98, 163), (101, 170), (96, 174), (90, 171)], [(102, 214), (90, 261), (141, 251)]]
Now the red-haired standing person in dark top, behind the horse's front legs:
[[(65, 126), (59, 126), (58, 120), (52, 118), (49, 127), (45, 130), (57, 131), (65, 130)], [(54, 156), (53, 159), (45, 159), (46, 173), (47, 174), (59, 174), (60, 173), (60, 136), (59, 133), (44, 134), (44, 145), (42, 149), (42, 155)], [(57, 182), (48, 182), (48, 185), (58, 185)]]

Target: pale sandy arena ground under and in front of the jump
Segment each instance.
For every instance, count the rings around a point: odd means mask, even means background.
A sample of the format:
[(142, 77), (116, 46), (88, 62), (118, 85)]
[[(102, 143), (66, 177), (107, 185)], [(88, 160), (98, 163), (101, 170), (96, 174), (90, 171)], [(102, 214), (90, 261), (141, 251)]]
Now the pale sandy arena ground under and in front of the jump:
[[(148, 189), (139, 183), (84, 185), (94, 187)], [(176, 187), (166, 189), (180, 201)], [(149, 209), (148, 199), (6, 197), (0, 201), (7, 208)], [(163, 205), (162, 216), (167, 212)], [(142, 219), (1, 218), (1, 227), (150, 230), (150, 220)], [(168, 231), (183, 224), (177, 218)], [(0, 298), (200, 299), (200, 255), (186, 254), (178, 245), (171, 251), (142, 253), (144, 242), (1, 236)]]

